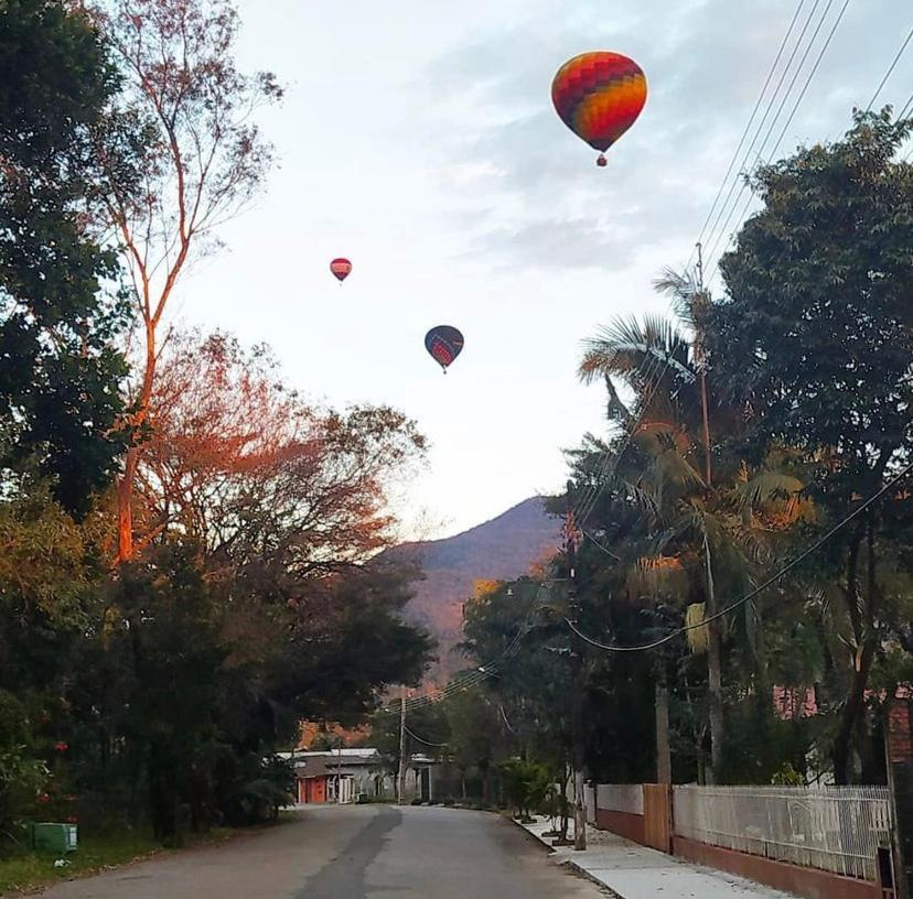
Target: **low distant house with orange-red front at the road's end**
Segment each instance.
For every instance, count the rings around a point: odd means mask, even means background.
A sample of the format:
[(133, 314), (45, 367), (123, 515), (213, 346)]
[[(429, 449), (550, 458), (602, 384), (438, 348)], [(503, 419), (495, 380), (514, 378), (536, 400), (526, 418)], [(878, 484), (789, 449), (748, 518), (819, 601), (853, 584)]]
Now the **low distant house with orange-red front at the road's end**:
[[(377, 749), (334, 749), (325, 752), (281, 752), (294, 766), (299, 804), (348, 803), (359, 798), (396, 798), (396, 779)], [(434, 798), (434, 759), (415, 755), (406, 772), (407, 801)]]

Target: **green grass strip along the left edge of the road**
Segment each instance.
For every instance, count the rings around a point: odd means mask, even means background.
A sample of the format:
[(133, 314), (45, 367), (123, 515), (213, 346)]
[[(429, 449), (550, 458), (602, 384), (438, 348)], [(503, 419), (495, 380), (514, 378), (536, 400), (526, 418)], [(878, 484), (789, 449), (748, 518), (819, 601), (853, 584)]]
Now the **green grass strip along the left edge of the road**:
[[(187, 835), (184, 848), (210, 843), (221, 843), (244, 831), (216, 827), (205, 834)], [(20, 852), (0, 858), (0, 896), (31, 892), (60, 880), (72, 880), (126, 865), (160, 853), (174, 852), (157, 843), (142, 832), (118, 833), (110, 836), (83, 836), (75, 853), (60, 856), (54, 853)], [(54, 862), (65, 857), (69, 864), (55, 868)]]

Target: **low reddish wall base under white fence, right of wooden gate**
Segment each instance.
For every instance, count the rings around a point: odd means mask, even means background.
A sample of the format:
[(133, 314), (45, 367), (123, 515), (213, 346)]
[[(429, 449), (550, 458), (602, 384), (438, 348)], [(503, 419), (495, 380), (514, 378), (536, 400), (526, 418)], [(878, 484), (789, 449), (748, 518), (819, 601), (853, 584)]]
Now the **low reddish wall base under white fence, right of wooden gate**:
[(673, 846), (675, 855), (689, 862), (748, 877), (750, 880), (803, 896), (805, 899), (881, 899), (881, 889), (864, 880), (721, 849), (719, 846), (696, 843), (683, 836), (673, 837)]

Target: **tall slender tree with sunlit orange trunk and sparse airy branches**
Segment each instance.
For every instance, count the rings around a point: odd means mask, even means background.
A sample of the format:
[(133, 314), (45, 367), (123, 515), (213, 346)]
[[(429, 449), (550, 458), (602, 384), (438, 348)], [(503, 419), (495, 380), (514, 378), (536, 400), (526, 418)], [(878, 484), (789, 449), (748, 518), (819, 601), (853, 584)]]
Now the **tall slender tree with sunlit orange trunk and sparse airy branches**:
[[(194, 252), (213, 250), (221, 225), (250, 202), (272, 160), (251, 113), (281, 90), (268, 73), (238, 71), (230, 0), (112, 0), (96, 15), (123, 78), (118, 102), (144, 126), (139, 185), (105, 171), (103, 191), (142, 324), (131, 396), (138, 434), (118, 485), (118, 557), (132, 557), (133, 488), (161, 351), (163, 316)], [(99, 148), (101, 163), (109, 148)]]

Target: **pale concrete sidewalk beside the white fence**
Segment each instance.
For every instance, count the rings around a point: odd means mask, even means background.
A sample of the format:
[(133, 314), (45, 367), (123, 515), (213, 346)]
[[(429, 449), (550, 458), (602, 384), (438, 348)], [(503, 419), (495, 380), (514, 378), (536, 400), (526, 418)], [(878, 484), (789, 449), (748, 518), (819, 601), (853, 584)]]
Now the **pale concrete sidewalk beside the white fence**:
[[(550, 830), (548, 821), (523, 826), (551, 848), (551, 840), (541, 835)], [(587, 837), (586, 852), (556, 848), (551, 859), (577, 868), (621, 899), (795, 899), (724, 871), (680, 862), (594, 827), (587, 828)]]

